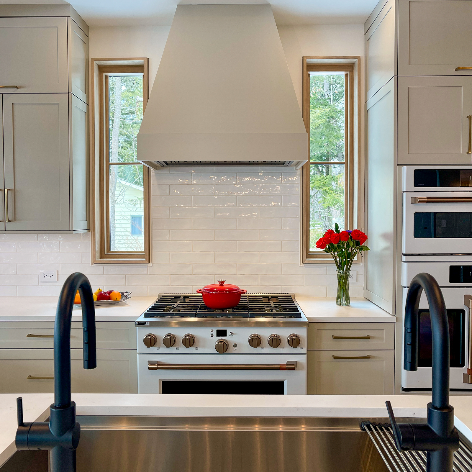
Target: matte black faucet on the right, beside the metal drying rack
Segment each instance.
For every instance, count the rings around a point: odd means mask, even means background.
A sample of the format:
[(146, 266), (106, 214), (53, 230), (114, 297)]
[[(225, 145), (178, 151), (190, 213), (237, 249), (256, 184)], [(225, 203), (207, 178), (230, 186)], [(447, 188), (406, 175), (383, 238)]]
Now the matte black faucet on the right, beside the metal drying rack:
[(397, 423), (392, 405), (386, 402), (399, 451), (427, 451), (428, 472), (453, 472), (453, 453), (459, 449), (459, 435), (454, 426), (454, 408), (449, 405), (449, 322), (446, 304), (438, 282), (421, 273), (411, 281), (405, 305), (405, 346), (403, 368), (418, 369), (418, 306), (424, 290), (430, 306), (432, 352), (431, 402), (427, 423)]

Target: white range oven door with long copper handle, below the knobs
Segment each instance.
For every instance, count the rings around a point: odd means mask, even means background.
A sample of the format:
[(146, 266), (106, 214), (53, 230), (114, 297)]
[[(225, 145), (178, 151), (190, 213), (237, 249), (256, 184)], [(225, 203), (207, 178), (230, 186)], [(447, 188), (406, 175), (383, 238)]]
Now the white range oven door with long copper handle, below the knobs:
[(138, 393), (306, 395), (306, 375), (305, 354), (138, 354)]

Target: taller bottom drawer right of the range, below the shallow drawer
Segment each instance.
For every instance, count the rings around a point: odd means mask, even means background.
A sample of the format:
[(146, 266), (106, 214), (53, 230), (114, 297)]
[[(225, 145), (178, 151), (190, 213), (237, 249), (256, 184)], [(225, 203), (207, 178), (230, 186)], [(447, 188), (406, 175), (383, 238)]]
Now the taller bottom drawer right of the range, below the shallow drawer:
[(393, 395), (395, 351), (308, 351), (309, 395)]

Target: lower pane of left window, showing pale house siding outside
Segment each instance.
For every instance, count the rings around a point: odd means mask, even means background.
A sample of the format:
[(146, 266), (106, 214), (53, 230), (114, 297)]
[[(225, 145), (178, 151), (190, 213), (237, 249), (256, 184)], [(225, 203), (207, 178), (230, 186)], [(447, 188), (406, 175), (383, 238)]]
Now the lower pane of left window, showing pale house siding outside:
[(110, 165), (110, 251), (144, 251), (143, 166)]

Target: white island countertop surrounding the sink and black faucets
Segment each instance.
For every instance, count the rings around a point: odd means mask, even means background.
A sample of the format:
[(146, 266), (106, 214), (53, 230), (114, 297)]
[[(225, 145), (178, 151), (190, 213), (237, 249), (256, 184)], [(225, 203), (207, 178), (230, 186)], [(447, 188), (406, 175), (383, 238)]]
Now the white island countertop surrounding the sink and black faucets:
[[(0, 465), (15, 452), (16, 398), (23, 397), (24, 420), (44, 421), (52, 394), (0, 395)], [(387, 417), (390, 400), (396, 417), (426, 417), (430, 396), (369, 395), (162, 395), (74, 394), (77, 415), (107, 416), (249, 416)], [(472, 441), (472, 397), (453, 396), (455, 426)]]

